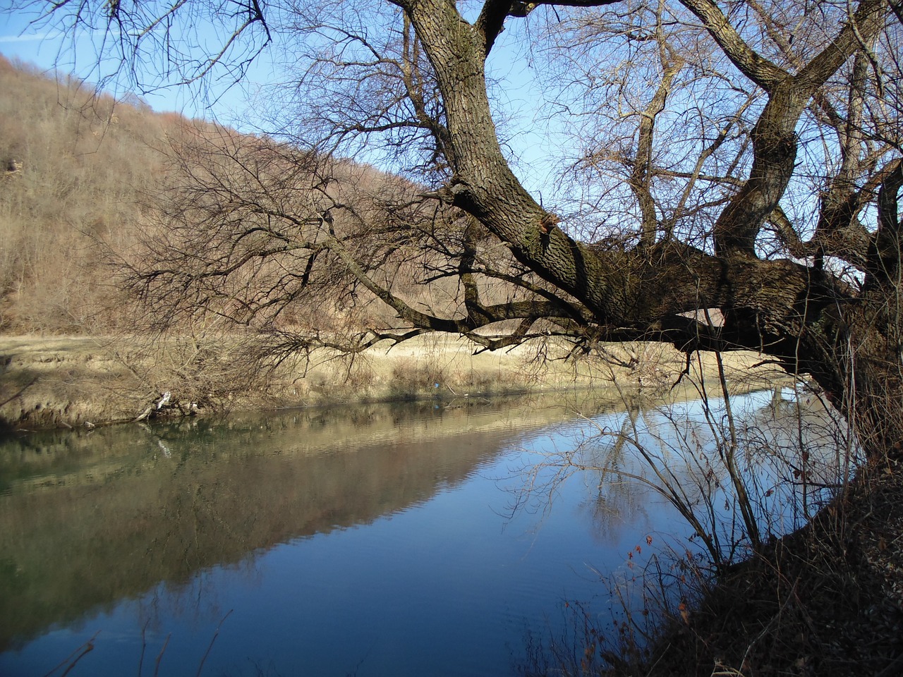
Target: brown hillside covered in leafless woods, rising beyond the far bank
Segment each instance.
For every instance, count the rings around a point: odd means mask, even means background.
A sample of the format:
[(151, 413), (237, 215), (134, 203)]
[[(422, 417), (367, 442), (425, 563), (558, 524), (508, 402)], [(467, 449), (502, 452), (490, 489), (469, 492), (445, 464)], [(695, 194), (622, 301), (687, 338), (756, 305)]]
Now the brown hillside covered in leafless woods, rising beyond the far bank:
[[(52, 79), (0, 57), (0, 333), (96, 336), (135, 329), (136, 322), (146, 322), (148, 330), (161, 329), (161, 323), (187, 326), (184, 317), (174, 317), (178, 312), (160, 308), (165, 294), (141, 288), (128, 267), (160, 261), (182, 268), (183, 261), (172, 260), (173, 251), (212, 256), (217, 246), (234, 246), (207, 225), (224, 210), (254, 223), (256, 215), (246, 205), (237, 208), (236, 199), (247, 194), (256, 203), (258, 196), (248, 193), (256, 184), (249, 186), (248, 177), (229, 166), (246, 158), (267, 165), (261, 171), (269, 172), (268, 197), (277, 193), (280, 209), (289, 214), (304, 218), (327, 195), (351, 205), (355, 218), (336, 222), (351, 240), (386, 227), (385, 209), (379, 212), (376, 201), (404, 201), (415, 190), (367, 164), (322, 161), (266, 137), (155, 113), (138, 97), (96, 97), (77, 79)], [(203, 183), (210, 167), (220, 172), (217, 181), (233, 181), (226, 194), (215, 195), (220, 186)], [(394, 216), (422, 217), (411, 209)], [(414, 305), (452, 309), (453, 281), (433, 282), (426, 290), (415, 282), (413, 268), (407, 269), (405, 252), (397, 250), (393, 245), (380, 260), (377, 275), (394, 278), (396, 292)], [(233, 301), (265, 305), (267, 294), (284, 292), (284, 270), (303, 270), (304, 263), (289, 258), (257, 268), (250, 291)], [(269, 329), (313, 325), (342, 331), (374, 320), (385, 325), (394, 317), (366, 289), (348, 283), (340, 270), (344, 264), (331, 265), (320, 274), (320, 287), (311, 281), (303, 300), (280, 304), (278, 319), (263, 320)], [(216, 310), (243, 321), (228, 304)], [(147, 314), (156, 311), (153, 318)]]

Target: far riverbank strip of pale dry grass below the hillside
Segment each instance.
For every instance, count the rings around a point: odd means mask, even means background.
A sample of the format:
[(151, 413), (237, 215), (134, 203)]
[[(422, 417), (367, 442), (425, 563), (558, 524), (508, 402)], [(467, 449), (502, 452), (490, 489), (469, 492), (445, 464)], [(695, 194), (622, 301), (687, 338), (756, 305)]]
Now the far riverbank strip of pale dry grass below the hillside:
[[(187, 339), (0, 337), (0, 422), (35, 430), (134, 421), (157, 413), (165, 393), (174, 413), (625, 388), (652, 395), (670, 389), (687, 366), (684, 355), (661, 344), (625, 344), (610, 348), (608, 360), (575, 361), (554, 342), (474, 355), (466, 340), (443, 336), (391, 349), (377, 344), (353, 360), (321, 350), (263, 375), (243, 360), (245, 348)], [(744, 390), (787, 378), (759, 366), (753, 353), (724, 360), (731, 384)], [(687, 384), (716, 379), (715, 357), (694, 356), (690, 372)]]

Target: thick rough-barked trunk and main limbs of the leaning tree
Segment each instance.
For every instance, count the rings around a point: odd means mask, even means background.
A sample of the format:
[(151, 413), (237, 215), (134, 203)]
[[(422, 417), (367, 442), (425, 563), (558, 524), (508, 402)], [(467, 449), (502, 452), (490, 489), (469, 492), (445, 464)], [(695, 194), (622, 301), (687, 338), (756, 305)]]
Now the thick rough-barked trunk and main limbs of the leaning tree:
[[(880, 183), (879, 225), (870, 236), (861, 290), (818, 265), (762, 260), (756, 254), (759, 231), (779, 208), (794, 172), (800, 116), (826, 80), (882, 29), (888, 3), (862, 2), (833, 42), (790, 73), (753, 51), (717, 5), (684, 0), (733, 64), (768, 94), (752, 130), (749, 178), (717, 218), (713, 252), (665, 239), (604, 254), (560, 228), (545, 232), (545, 210), (517, 181), (498, 145), (484, 61), (499, 17), (511, 12), (512, 3), (489, 0), (474, 24), (464, 21), (452, 2), (396, 4), (414, 24), (442, 90), (453, 205), (478, 218), (518, 261), (582, 301), (604, 338), (655, 338), (683, 350), (761, 350), (791, 373), (811, 374), (871, 454), (899, 450), (899, 162), (887, 168)], [(723, 327), (681, 315), (712, 307), (724, 312)]]

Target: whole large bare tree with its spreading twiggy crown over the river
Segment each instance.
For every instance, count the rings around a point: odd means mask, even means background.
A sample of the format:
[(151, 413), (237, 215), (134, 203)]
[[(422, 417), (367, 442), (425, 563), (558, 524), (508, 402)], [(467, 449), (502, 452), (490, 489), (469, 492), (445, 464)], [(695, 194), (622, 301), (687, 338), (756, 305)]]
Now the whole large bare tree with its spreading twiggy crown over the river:
[[(98, 63), (138, 84), (241, 79), (271, 42), (293, 61), (271, 136), (173, 140), (191, 181), (135, 267), (167, 318), (291, 324), (286, 349), (424, 331), (754, 349), (811, 375), (870, 454), (899, 452), (898, 0), (26, 6), (106, 35)], [(569, 142), (544, 149), (554, 206), (512, 169), (498, 103), (525, 63), (545, 93), (529, 124)], [(364, 294), (391, 312), (355, 337), (280, 325)]]

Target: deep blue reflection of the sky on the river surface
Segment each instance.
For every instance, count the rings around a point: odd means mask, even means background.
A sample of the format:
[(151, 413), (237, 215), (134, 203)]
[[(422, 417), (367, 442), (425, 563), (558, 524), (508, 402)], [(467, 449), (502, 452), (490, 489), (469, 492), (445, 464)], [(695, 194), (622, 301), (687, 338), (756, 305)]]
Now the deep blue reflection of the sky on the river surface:
[[(777, 446), (779, 435), (763, 414), (770, 393), (738, 398), (735, 406), (742, 406), (735, 413), (746, 437)], [(658, 436), (674, 421), (686, 441), (701, 445), (694, 459), (711, 455), (714, 435), (703, 414), (699, 403), (686, 403), (634, 419), (602, 414), (529, 435), (499, 455), (479, 455), (465, 478), (440, 481), (432, 495), (394, 512), (260, 549), (237, 564), (195, 572), (184, 584), (160, 583), (53, 629), (0, 656), (0, 673), (44, 674), (98, 631), (94, 651), (70, 675), (137, 674), (143, 631), (144, 674), (154, 673), (167, 636), (162, 675), (195, 674), (214, 636), (204, 674), (512, 673), (528, 633), (562, 632), (563, 600), (605, 613), (610, 601), (596, 571), (627, 575), (628, 552), (641, 568), (656, 546), (681, 546), (690, 533), (661, 496), (635, 482), (571, 468), (563, 483), (553, 482), (563, 471), (560, 460), (610, 460), (617, 438), (593, 435), (621, 431), (627, 422), (686, 479), (689, 470), (679, 466), (684, 443)], [(721, 412), (713, 418), (721, 422)], [(816, 421), (814, 414), (804, 427), (815, 431)], [(585, 442), (578, 447), (575, 440)], [(441, 437), (433, 443), (442, 444)], [(644, 470), (627, 451), (618, 462), (623, 472)], [(537, 464), (534, 475), (522, 472)], [(775, 484), (768, 469), (750, 472), (759, 483)], [(535, 482), (529, 496), (522, 493), (526, 481)], [(721, 507), (716, 517), (730, 523), (731, 510)]]

